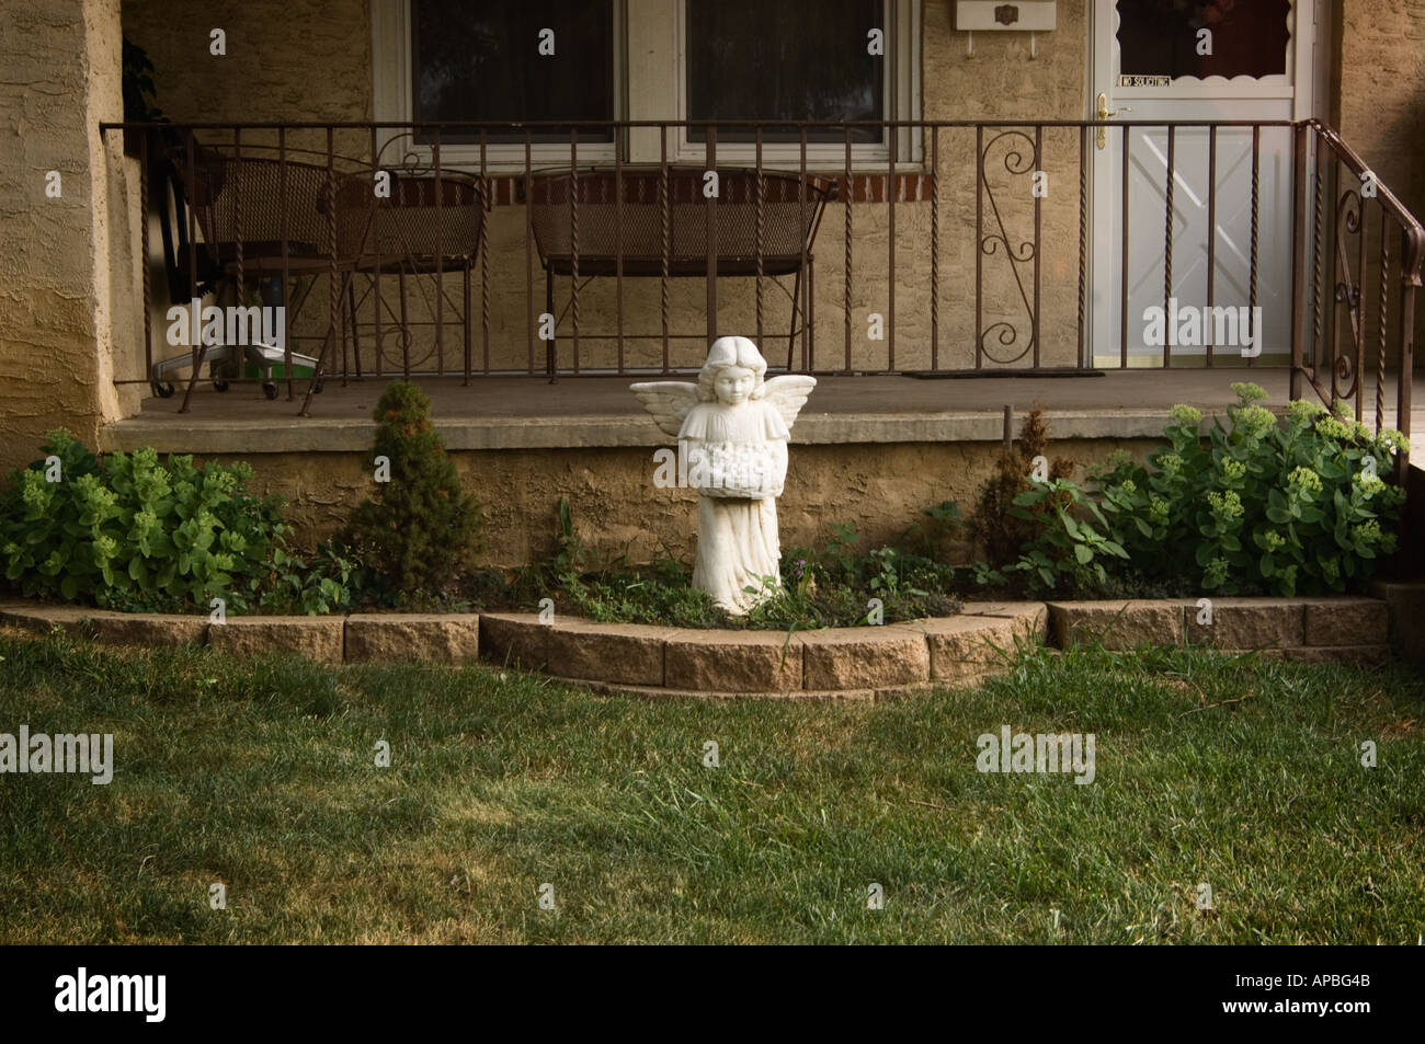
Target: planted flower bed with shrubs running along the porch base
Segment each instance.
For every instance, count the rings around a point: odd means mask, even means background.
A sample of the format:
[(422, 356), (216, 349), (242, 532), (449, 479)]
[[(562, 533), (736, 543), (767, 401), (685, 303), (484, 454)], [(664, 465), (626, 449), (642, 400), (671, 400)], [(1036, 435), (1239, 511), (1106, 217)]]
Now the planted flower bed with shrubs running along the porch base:
[[(693, 587), (685, 563), (664, 557), (631, 564), (591, 553), (564, 500), (550, 555), (513, 578), (477, 567), (480, 506), (460, 489), (432, 427), (429, 400), (402, 382), (386, 389), (375, 413), (373, 498), (316, 555), (304, 558), (288, 546), (282, 504), (248, 491), (247, 464), (200, 469), (184, 456), (160, 461), (152, 450), (98, 457), (58, 430), (41, 447), (46, 459), (16, 471), (0, 490), (3, 583), (24, 597), (63, 598), (100, 637), (158, 635), (157, 624), (125, 621), (108, 610), (165, 611), (185, 621), (172, 628), (192, 641), (194, 627), (208, 627), (194, 624), (194, 614), (211, 608), (212, 620), (227, 617), (227, 624), (212, 624), (224, 630), (204, 631), (204, 641), (232, 652), (272, 645), (333, 661), (399, 655), (403, 648), (425, 659), (472, 659), (480, 645), (475, 612), (486, 621), (520, 621), (540, 607), (560, 621), (644, 630), (607, 638), (631, 657), (611, 677), (567, 667), (583, 662), (587, 649), (573, 651), (573, 638), (546, 641), (563, 635), (563, 622), (539, 638), (539, 655), (524, 649), (530, 662), (554, 662), (561, 677), (680, 691), (875, 692), (939, 681), (932, 668), (921, 671), (921, 652), (902, 631), (952, 618), (968, 597), (1043, 605), (1177, 595), (1153, 602), (1151, 611), (1139, 612), (1144, 602), (1133, 602), (1131, 611), (1120, 604), (1113, 612), (1127, 612), (1127, 631), (1146, 627), (1153, 641), (1330, 648), (1308, 637), (1312, 617), (1305, 608), (1297, 622), (1267, 614), (1275, 620), (1264, 631), (1270, 641), (1257, 642), (1223, 637), (1253, 631), (1240, 625), (1254, 618), (1245, 605), (1228, 607), (1226, 630), (1216, 637), (1198, 634), (1210, 625), (1196, 615), (1188, 621), (1186, 605), (1203, 594), (1290, 601), (1369, 590), (1378, 561), (1396, 546), (1405, 493), (1382, 476), (1395, 471), (1399, 434), (1372, 433), (1340, 404), (1328, 412), (1297, 402), (1277, 417), (1257, 404), (1260, 387), (1234, 389), (1240, 402), (1226, 426), (1214, 422), (1204, 433), (1201, 414), (1177, 406), (1166, 443), (1147, 466), (1113, 457), (1090, 470), (1089, 487), (1069, 477), (1073, 461), (1049, 461), (1047, 424), (1036, 407), (1017, 446), (1002, 454), (969, 523), (946, 501), (921, 511), (893, 546), (874, 548), (858, 547), (855, 526), (832, 524), (821, 546), (784, 550), (779, 575), (760, 578), (767, 597), (745, 615), (728, 615)], [(988, 561), (973, 558), (976, 547)], [(403, 637), (390, 637), (388, 617), (362, 615), (392, 610), (436, 615), (405, 617)], [(309, 617), (284, 615), (298, 612)], [(1070, 620), (1076, 610), (1054, 612)], [(1083, 612), (1107, 618), (1100, 610)], [(1371, 612), (1372, 621), (1379, 617)], [(1064, 627), (1073, 634), (1077, 624)], [(858, 628), (882, 637), (855, 638)], [(667, 634), (674, 630), (704, 631), (704, 645), (735, 645), (742, 649), (735, 657), (748, 662), (761, 654), (745, 649), (777, 648), (778, 669), (722, 678), (721, 688), (711, 689), (693, 667), (670, 675), (667, 655), (656, 669), (648, 649), (671, 645)], [(735, 631), (755, 637), (714, 637)], [(594, 648), (607, 634), (614, 632), (584, 631), (581, 641)], [(886, 652), (895, 642), (884, 635), (905, 640), (905, 648)], [(794, 645), (804, 667), (811, 665), (795, 678), (787, 667)], [(1345, 658), (1372, 659), (1384, 645), (1384, 637), (1372, 637), (1340, 648), (1357, 649)], [(866, 659), (861, 681), (849, 667), (826, 667), (835, 657), (822, 647), (859, 648)], [(818, 651), (808, 652), (812, 648)], [(892, 665), (874, 665), (886, 657)]]

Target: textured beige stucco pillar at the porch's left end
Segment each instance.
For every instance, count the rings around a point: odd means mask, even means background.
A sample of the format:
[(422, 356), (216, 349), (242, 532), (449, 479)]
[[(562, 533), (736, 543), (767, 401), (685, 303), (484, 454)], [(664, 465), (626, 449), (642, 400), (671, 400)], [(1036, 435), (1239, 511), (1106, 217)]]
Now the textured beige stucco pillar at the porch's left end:
[(60, 424), (93, 444), (134, 402), (113, 356), (137, 320), (121, 249), (137, 169), (98, 134), (123, 113), (118, 54), (118, 0), (0, 6), (0, 466)]

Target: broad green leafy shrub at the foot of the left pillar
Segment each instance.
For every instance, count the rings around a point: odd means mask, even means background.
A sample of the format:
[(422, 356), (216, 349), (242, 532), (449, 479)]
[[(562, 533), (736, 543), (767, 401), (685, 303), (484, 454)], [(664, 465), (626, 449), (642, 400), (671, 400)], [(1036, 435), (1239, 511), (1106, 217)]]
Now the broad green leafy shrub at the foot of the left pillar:
[[(64, 429), (0, 493), (0, 560), (26, 597), (131, 611), (323, 612), (346, 597), (286, 547), (279, 497), (247, 489), (245, 463), (205, 463), (151, 449), (88, 451)], [(331, 583), (328, 583), (331, 581)]]

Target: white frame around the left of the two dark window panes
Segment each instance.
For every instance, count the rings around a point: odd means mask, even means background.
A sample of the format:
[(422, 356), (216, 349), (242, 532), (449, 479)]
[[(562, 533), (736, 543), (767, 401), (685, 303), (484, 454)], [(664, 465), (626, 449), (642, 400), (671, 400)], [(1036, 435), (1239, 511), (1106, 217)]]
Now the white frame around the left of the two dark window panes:
[[(627, 118), (627, 47), (626, 26), (627, 10), (624, 0), (614, 0), (614, 120)], [(370, 4), (370, 36), (372, 36), (372, 113), (376, 122), (412, 122), (415, 121), (415, 98), (412, 97), (410, 81), (410, 0), (372, 0)], [(537, 41), (530, 41), (533, 48)], [(554, 46), (560, 46), (556, 37)], [(413, 141), (406, 144), (389, 144), (406, 131), (382, 128), (378, 131), (378, 148), (383, 167), (400, 165), (403, 157), (415, 160), (420, 165), (435, 162), (432, 145), (420, 145)], [(524, 169), (524, 144), (509, 141), (487, 141), (484, 145), (486, 171), (494, 174), (520, 172)], [(611, 141), (579, 142), (579, 165), (613, 164), (614, 145)], [(440, 145), (440, 165), (450, 169), (480, 169), (479, 142), (453, 142)], [(569, 165), (567, 142), (530, 142), (530, 169)]]

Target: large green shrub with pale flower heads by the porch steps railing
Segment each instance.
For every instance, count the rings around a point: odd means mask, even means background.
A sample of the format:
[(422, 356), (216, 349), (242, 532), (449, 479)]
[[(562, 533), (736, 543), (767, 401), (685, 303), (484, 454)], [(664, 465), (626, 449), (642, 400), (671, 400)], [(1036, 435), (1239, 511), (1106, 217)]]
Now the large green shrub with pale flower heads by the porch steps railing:
[(1103, 511), (1146, 577), (1186, 578), (1221, 594), (1277, 595), (1364, 590), (1395, 550), (1405, 491), (1392, 474), (1398, 432), (1377, 437), (1344, 403), (1298, 400), (1284, 422), (1237, 383), (1228, 423), (1207, 443), (1201, 414), (1173, 409), (1167, 446), (1112, 461), (1100, 476)]

